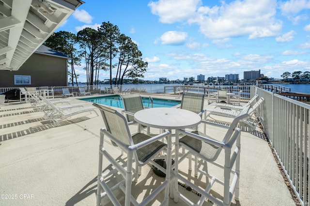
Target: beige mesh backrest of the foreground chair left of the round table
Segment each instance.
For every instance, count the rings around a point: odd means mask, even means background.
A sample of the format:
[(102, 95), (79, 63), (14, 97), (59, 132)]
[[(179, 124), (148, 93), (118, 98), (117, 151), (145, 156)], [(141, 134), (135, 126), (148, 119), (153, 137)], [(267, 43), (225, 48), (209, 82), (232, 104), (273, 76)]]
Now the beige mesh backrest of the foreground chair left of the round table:
[(111, 139), (112, 143), (115, 142), (115, 146), (133, 145), (126, 118), (120, 112), (104, 105), (97, 103), (93, 103), (93, 105), (100, 109), (107, 131), (114, 136), (115, 139)]

